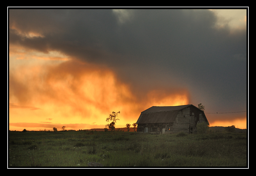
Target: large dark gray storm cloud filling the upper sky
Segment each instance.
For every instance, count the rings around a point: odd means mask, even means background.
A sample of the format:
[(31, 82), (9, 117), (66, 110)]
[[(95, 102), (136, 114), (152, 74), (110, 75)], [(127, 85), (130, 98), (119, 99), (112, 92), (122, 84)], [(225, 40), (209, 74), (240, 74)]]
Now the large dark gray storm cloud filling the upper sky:
[[(208, 112), (246, 110), (246, 30), (215, 27), (207, 9), (126, 13), (120, 21), (112, 10), (10, 9), (9, 42), (106, 65), (140, 92), (187, 88)], [(20, 34), (29, 32), (44, 37)]]

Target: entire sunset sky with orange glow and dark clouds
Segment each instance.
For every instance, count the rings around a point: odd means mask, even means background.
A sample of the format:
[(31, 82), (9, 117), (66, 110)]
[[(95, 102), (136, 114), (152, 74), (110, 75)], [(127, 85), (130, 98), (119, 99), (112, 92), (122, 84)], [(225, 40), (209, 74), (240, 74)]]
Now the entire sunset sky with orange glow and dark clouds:
[[(9, 9), (9, 130), (116, 128), (199, 103), (247, 128), (247, 9)], [(217, 113), (218, 112), (218, 113)]]

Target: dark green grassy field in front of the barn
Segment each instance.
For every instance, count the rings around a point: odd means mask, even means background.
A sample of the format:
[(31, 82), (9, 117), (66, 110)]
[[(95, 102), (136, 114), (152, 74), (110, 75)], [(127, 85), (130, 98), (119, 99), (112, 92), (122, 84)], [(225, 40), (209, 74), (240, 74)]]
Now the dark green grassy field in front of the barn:
[(247, 134), (9, 131), (8, 167), (247, 168)]

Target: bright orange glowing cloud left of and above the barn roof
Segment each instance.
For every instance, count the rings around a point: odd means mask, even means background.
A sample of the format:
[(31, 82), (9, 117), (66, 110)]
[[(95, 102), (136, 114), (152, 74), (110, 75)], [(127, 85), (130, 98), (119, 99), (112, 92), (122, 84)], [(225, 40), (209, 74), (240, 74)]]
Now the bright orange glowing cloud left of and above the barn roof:
[[(51, 118), (53, 124), (67, 127), (81, 124), (81, 129), (87, 129), (99, 125), (104, 128), (112, 111), (121, 112), (116, 127), (124, 127), (135, 123), (140, 112), (151, 106), (188, 104), (189, 94), (175, 89), (132, 92), (130, 85), (118, 80), (105, 67), (66, 61), (57, 65), (23, 65), (11, 70), (9, 102), (10, 125)], [(33, 108), (35, 111), (31, 111)]]

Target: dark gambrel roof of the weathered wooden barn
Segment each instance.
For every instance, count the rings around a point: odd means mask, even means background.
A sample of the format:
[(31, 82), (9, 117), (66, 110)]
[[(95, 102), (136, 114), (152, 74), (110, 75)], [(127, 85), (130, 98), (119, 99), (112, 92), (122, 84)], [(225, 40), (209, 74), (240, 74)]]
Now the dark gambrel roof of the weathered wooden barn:
[(172, 123), (178, 112), (189, 106), (194, 105), (152, 106), (141, 112), (136, 124)]

